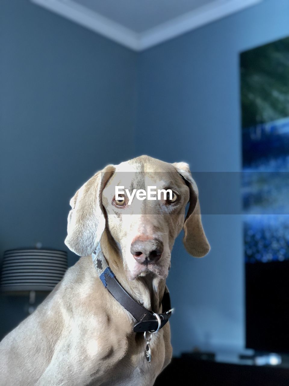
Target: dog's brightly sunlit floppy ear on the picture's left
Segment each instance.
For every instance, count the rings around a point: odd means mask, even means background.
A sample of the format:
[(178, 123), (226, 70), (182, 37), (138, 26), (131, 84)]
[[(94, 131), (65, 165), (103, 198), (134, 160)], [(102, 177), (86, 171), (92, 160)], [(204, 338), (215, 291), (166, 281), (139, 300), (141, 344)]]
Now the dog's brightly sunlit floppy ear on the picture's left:
[(70, 200), (65, 244), (79, 256), (90, 255), (100, 242), (105, 228), (102, 190), (114, 173), (113, 165), (94, 174)]

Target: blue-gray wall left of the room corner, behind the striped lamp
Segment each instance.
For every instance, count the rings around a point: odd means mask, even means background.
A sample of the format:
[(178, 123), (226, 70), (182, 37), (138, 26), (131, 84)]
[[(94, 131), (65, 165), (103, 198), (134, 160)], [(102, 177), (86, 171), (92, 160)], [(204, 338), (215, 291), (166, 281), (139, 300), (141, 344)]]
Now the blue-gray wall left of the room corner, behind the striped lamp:
[[(0, 254), (66, 249), (74, 192), (134, 156), (136, 54), (28, 0), (2, 0), (0, 18)], [(25, 304), (0, 298), (0, 337)]]

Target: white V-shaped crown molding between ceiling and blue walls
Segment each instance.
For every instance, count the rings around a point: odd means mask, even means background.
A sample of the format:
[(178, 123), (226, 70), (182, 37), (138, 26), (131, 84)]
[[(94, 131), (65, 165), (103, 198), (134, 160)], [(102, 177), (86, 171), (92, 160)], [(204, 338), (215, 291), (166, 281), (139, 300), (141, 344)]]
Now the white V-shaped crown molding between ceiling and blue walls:
[(73, 0), (30, 0), (134, 51), (143, 51), (263, 0), (216, 0), (152, 29), (137, 33)]

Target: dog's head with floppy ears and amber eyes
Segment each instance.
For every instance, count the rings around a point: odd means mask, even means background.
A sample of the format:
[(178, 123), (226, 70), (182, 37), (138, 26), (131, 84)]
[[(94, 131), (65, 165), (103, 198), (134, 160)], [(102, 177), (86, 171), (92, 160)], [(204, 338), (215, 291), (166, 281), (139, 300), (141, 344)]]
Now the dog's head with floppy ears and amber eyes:
[[(145, 196), (148, 186), (156, 187), (151, 200)], [(116, 187), (124, 192), (117, 198)], [(70, 205), (65, 240), (69, 249), (80, 256), (91, 254), (107, 228), (129, 279), (148, 272), (166, 278), (171, 250), (182, 228), (183, 243), (192, 256), (202, 257), (210, 250), (197, 185), (183, 162), (169, 164), (141, 156), (106, 166), (76, 192)]]

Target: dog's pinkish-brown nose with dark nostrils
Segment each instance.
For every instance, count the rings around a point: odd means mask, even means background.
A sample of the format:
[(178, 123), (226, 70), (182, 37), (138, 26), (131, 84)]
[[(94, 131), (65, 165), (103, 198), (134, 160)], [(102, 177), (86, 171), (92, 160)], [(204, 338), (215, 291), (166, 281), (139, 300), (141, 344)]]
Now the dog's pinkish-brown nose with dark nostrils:
[(131, 254), (139, 264), (156, 262), (163, 253), (163, 243), (160, 240), (135, 240), (131, 244)]

